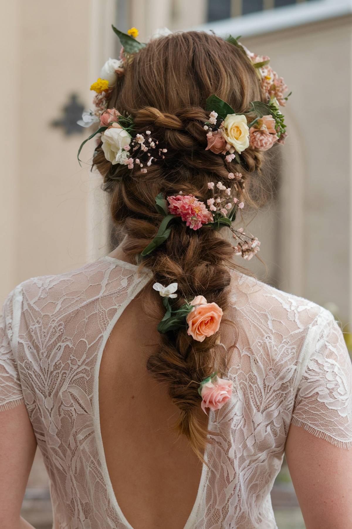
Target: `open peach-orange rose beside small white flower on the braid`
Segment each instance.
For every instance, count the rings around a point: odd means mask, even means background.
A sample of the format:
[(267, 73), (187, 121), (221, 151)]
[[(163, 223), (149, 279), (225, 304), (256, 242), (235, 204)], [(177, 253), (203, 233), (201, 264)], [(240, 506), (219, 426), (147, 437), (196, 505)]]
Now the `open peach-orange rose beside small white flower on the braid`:
[(203, 342), (206, 336), (219, 330), (223, 311), (216, 303), (207, 303), (204, 296), (196, 296), (191, 305), (195, 307), (187, 316), (187, 333), (197, 342)]

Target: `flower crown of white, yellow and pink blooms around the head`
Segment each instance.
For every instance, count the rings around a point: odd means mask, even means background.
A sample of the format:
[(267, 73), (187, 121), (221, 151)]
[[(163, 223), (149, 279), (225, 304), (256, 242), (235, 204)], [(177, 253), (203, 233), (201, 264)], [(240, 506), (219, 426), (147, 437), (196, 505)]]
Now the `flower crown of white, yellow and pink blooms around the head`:
[[(151, 137), (151, 132), (138, 133), (135, 130), (131, 116), (122, 116), (116, 108), (108, 108), (111, 90), (117, 83), (119, 76), (125, 72), (125, 66), (133, 56), (146, 46), (138, 42), (137, 28), (131, 28), (128, 33), (119, 31), (112, 26), (122, 44), (120, 58), (109, 58), (101, 69), (100, 77), (90, 87), (96, 92), (93, 99), (94, 110), (84, 111), (82, 120), (77, 123), (89, 127), (100, 122), (98, 130), (84, 140), (83, 145), (96, 134), (101, 134), (102, 150), (108, 161), (115, 165), (127, 165), (133, 169), (140, 166), (141, 172), (146, 172), (147, 167), (157, 159), (164, 159), (167, 149), (156, 147), (158, 142)], [(157, 36), (167, 35), (170, 31), (159, 31)], [(230, 37), (227, 42), (239, 48), (250, 61), (258, 75), (263, 94), (267, 102), (253, 101), (243, 114), (236, 114), (233, 108), (217, 97), (211, 95), (206, 100), (206, 109), (210, 112), (209, 120), (204, 123), (207, 147), (215, 154), (223, 154), (227, 162), (233, 159), (241, 164), (241, 153), (251, 147), (259, 151), (266, 151), (274, 143), (284, 143), (287, 136), (284, 117), (279, 106), (284, 106), (290, 94), (284, 96), (287, 86), (282, 77), (269, 66), (269, 57), (258, 56), (244, 48), (237, 39)], [(143, 156), (141, 156), (143, 155)], [(141, 159), (142, 158), (142, 159)]]

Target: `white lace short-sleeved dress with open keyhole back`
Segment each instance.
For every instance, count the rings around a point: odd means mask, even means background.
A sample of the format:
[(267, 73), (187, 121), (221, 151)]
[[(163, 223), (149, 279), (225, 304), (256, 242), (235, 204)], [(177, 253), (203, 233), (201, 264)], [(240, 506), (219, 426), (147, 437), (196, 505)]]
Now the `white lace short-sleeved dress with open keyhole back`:
[[(113, 493), (100, 433), (104, 344), (149, 276), (103, 257), (23, 281), (0, 317), (0, 410), (24, 401), (49, 473), (55, 529), (132, 529)], [(210, 412), (185, 529), (275, 528), (270, 491), (290, 423), (349, 449), (351, 362), (332, 315), (306, 299), (233, 273), (233, 396)], [(225, 343), (226, 342), (226, 343)]]

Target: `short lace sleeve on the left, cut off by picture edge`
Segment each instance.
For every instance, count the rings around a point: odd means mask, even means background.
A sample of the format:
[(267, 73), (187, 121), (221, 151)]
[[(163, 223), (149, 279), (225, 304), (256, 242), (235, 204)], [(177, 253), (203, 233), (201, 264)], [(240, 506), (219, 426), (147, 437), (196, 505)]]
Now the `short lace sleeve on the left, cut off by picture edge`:
[(14, 305), (18, 304), (16, 303), (18, 297), (18, 287), (16, 287), (8, 294), (0, 313), (0, 412), (24, 402), (14, 355), (16, 340)]

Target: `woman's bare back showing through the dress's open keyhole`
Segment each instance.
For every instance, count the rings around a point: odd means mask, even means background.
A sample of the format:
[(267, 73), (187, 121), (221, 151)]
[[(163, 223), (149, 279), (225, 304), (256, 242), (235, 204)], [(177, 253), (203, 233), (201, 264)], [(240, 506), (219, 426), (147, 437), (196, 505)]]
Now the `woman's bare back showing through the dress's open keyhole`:
[[(179, 410), (166, 386), (146, 369), (158, 336), (143, 312), (144, 296), (142, 291), (125, 308), (102, 355), (104, 452), (117, 502), (134, 529), (183, 529), (195, 503), (202, 464), (186, 437), (169, 430)], [(202, 411), (199, 417), (206, 425)]]

